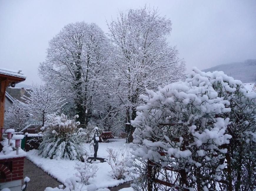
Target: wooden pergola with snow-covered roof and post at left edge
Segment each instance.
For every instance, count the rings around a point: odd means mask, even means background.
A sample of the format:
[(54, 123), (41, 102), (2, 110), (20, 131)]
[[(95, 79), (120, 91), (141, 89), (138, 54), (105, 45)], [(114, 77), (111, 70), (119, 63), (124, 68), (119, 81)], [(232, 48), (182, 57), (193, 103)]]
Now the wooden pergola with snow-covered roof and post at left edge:
[(6, 87), (14, 87), (15, 84), (24, 81), (26, 76), (21, 70), (14, 71), (5, 68), (0, 68), (0, 138), (2, 137), (1, 130), (4, 127), (4, 98)]

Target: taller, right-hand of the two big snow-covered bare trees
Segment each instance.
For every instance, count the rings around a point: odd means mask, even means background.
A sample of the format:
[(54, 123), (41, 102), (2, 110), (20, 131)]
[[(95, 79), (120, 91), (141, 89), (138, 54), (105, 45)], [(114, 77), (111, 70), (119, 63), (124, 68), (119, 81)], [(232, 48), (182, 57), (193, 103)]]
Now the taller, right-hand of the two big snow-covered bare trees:
[[(167, 41), (171, 25), (169, 19), (146, 6), (120, 12), (117, 20), (108, 23), (114, 45), (110, 63), (115, 81), (108, 85), (125, 106), (130, 134), (134, 131), (130, 121), (136, 117), (139, 95), (145, 88), (155, 90), (183, 77), (184, 62)], [(132, 136), (129, 138), (132, 141)]]

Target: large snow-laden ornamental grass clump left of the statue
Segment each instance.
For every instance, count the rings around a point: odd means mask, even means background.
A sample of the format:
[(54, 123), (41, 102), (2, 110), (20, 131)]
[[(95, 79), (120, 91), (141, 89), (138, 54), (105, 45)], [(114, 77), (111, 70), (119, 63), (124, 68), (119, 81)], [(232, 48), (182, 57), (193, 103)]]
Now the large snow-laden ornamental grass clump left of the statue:
[(51, 114), (46, 116), (46, 122), (41, 130), (44, 137), (39, 145), (39, 154), (45, 158), (79, 159), (85, 154), (84, 136), (77, 128), (79, 122), (69, 120), (66, 115)]

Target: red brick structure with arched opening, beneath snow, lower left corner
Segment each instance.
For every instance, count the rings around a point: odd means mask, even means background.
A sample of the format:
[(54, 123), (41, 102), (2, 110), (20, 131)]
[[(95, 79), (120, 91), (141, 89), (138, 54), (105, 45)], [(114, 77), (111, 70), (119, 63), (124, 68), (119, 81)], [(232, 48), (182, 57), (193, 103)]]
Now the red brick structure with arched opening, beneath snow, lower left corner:
[(24, 158), (17, 157), (0, 160), (0, 183), (23, 179)]

